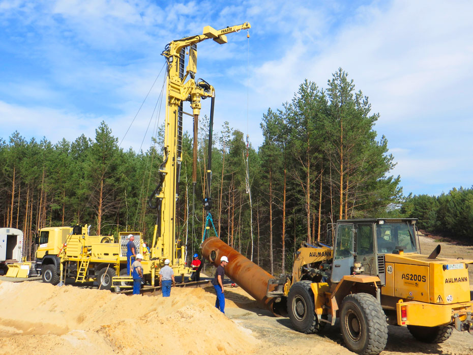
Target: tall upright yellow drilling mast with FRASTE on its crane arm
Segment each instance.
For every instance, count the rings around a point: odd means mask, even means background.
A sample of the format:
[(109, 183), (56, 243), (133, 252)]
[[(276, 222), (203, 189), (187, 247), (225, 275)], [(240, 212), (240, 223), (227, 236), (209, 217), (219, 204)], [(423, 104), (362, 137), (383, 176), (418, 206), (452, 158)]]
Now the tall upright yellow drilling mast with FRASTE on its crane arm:
[[(239, 32), (250, 28), (245, 22), (240, 25), (216, 30), (211, 26), (203, 28), (202, 35), (186, 37), (175, 40), (166, 45), (162, 55), (167, 62), (166, 78), (166, 117), (164, 132), (164, 156), (159, 169), (159, 181), (153, 194), (150, 196), (149, 205), (157, 209), (158, 217), (153, 234), (151, 260), (171, 260), (174, 274), (188, 272), (185, 267), (184, 246), (179, 247), (176, 241), (175, 218), (176, 200), (179, 197), (179, 175), (182, 162), (182, 134), (183, 115), (188, 114), (194, 119), (194, 165), (193, 181), (196, 182), (197, 159), (197, 127), (200, 114), (200, 100), (211, 98), (210, 132), (209, 132), (209, 158), (207, 168), (206, 201), (210, 202), (211, 181), (211, 149), (212, 125), (214, 115), (215, 90), (212, 85), (203, 79), (196, 79), (197, 73), (197, 43), (213, 39), (219, 44), (227, 43), (226, 34)], [(187, 63), (187, 66), (186, 66)], [(184, 101), (189, 101), (192, 114), (183, 110)], [(157, 266), (157, 265), (156, 265)], [(155, 271), (152, 270), (154, 280)], [(158, 267), (159, 269), (159, 267)]]

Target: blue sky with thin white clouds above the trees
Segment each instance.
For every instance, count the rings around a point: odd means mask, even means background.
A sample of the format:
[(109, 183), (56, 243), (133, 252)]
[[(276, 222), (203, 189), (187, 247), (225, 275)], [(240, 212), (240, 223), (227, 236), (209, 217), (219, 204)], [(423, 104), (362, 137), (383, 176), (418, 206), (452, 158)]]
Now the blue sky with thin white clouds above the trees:
[(216, 88), (215, 132), (228, 121), (259, 146), (269, 107), (290, 101), (305, 78), (327, 87), (342, 67), (380, 113), (375, 130), (404, 194), (471, 187), (471, 14), (471, 1), (0, 0), (0, 137), (93, 138), (105, 121), (124, 149), (146, 150), (162, 76), (125, 133), (164, 46), (205, 25), (248, 21), (249, 40), (245, 31), (198, 45), (197, 77)]

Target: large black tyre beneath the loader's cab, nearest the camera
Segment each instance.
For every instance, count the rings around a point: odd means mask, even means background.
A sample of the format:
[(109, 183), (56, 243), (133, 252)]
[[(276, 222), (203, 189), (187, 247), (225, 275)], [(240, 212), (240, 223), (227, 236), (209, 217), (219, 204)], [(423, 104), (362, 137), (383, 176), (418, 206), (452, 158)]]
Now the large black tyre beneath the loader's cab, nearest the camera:
[(343, 299), (340, 328), (346, 347), (360, 355), (377, 355), (386, 347), (386, 315), (369, 293), (349, 294)]

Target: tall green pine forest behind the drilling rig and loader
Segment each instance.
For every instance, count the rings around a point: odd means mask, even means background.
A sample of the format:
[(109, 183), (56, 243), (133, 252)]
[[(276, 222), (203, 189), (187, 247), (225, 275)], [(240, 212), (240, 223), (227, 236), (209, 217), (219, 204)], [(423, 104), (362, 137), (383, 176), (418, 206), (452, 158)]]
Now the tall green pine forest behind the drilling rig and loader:
[[(424, 218), (411, 216), (412, 196), (403, 197), (400, 177), (390, 174), (395, 160), (387, 138), (374, 130), (378, 117), (339, 69), (326, 88), (305, 80), (290, 101), (269, 108), (257, 150), (227, 122), (214, 127), (211, 235), (274, 275), (290, 268), (301, 242), (331, 244), (338, 219)], [(199, 125), (195, 185), (192, 133), (183, 136), (176, 221), (176, 238), (189, 253), (198, 251), (205, 224), (209, 120), (203, 116)], [(27, 259), (34, 258), (36, 231), (48, 226), (87, 223), (91, 233), (140, 231), (149, 241), (157, 216), (148, 199), (163, 159), (162, 134), (146, 152), (134, 152), (119, 147), (105, 122), (95, 137), (74, 141), (27, 141), (12, 133), (0, 140), (0, 225), (23, 230)]]

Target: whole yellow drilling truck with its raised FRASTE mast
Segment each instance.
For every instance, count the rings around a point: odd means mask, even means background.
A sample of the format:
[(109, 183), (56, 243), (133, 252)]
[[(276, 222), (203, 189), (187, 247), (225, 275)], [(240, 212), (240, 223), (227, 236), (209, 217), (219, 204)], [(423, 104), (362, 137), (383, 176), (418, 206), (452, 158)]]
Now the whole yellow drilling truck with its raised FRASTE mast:
[[(191, 270), (185, 265), (185, 247), (176, 236), (176, 200), (179, 198), (179, 175), (182, 162), (183, 114), (194, 119), (194, 166), (193, 181), (196, 182), (197, 127), (200, 100), (211, 98), (209, 157), (205, 188), (204, 207), (210, 209), (212, 125), (214, 115), (215, 90), (203, 79), (196, 79), (197, 43), (213, 39), (219, 44), (227, 43), (226, 34), (250, 28), (245, 22), (240, 25), (216, 30), (211, 26), (203, 28), (202, 35), (175, 40), (166, 45), (162, 55), (166, 58), (166, 117), (164, 131), (164, 156), (159, 167), (158, 184), (149, 198), (151, 208), (157, 210), (157, 220), (150, 252), (141, 238), (140, 232), (132, 232), (136, 252), (143, 254), (143, 273), (151, 284), (155, 284), (156, 274), (170, 260), (174, 275)], [(183, 103), (190, 102), (192, 114), (183, 110)], [(120, 232), (119, 240), (111, 236), (89, 235), (82, 226), (50, 227), (39, 231), (36, 244), (35, 269), (43, 275), (43, 281), (57, 284), (64, 277), (74, 277), (76, 282), (97, 281), (102, 288), (113, 285), (127, 286), (131, 276), (127, 271), (126, 245), (130, 232)], [(20, 265), (14, 265), (16, 269)], [(12, 268), (14, 267), (12, 266)]]

